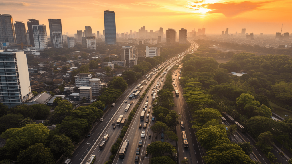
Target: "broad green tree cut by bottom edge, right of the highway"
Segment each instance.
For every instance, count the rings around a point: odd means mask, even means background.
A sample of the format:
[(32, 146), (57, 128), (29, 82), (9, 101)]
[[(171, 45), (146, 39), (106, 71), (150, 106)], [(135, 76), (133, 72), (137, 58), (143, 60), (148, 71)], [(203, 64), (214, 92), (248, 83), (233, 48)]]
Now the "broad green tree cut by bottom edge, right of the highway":
[(240, 146), (231, 143), (223, 143), (214, 146), (207, 152), (207, 156), (202, 158), (208, 164), (254, 164), (254, 161), (241, 150)]

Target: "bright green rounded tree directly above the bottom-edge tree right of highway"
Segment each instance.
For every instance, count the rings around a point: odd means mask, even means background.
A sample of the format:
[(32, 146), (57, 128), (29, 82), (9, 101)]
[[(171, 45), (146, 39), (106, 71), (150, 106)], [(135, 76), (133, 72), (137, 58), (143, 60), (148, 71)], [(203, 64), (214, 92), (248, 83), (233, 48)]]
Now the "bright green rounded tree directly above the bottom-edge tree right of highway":
[(210, 125), (208, 128), (202, 128), (198, 130), (196, 136), (206, 150), (210, 150), (212, 147), (223, 143), (230, 143), (227, 138), (226, 130), (222, 130), (217, 126)]

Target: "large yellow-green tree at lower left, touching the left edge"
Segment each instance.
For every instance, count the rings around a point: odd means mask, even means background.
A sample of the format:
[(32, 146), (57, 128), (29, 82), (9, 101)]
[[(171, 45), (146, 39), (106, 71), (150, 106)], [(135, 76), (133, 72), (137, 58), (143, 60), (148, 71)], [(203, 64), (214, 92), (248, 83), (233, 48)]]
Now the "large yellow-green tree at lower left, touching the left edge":
[(49, 135), (49, 129), (42, 123), (27, 124), (22, 128), (7, 129), (1, 134), (1, 138), (6, 139), (4, 148), (6, 155), (11, 159), (16, 159), (19, 152), (27, 149), (35, 143), (45, 143)]

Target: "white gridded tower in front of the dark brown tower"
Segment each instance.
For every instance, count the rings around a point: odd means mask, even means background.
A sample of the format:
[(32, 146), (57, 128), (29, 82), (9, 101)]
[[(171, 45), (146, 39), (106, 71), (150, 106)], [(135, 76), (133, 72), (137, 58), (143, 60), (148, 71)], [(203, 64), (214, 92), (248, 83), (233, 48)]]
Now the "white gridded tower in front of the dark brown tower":
[(46, 25), (32, 25), (34, 36), (34, 47), (36, 50), (48, 48), (48, 37)]

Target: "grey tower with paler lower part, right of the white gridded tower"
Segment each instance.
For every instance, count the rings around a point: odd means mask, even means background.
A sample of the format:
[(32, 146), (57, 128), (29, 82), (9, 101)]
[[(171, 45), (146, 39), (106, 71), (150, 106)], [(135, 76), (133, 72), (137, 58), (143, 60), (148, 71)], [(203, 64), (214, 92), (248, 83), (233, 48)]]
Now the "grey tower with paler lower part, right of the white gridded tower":
[(62, 21), (61, 19), (49, 19), (51, 43), (54, 48), (63, 48)]

